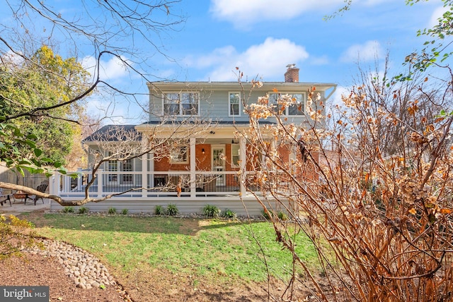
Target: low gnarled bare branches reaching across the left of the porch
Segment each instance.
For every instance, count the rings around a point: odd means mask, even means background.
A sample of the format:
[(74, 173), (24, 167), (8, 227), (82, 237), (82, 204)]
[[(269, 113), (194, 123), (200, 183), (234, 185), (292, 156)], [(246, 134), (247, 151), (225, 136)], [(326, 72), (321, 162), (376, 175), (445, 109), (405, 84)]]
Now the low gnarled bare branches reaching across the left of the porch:
[[(168, 127), (171, 128), (171, 133), (163, 135), (160, 127), (154, 127), (151, 133), (144, 135), (130, 126), (105, 126), (99, 131), (90, 135), (84, 141), (84, 151), (88, 155), (89, 164), (89, 177), (83, 187), (84, 198), (78, 200), (64, 200), (58, 195), (42, 193), (20, 186), (14, 183), (0, 182), (1, 188), (20, 190), (26, 193), (37, 195), (42, 198), (49, 198), (55, 200), (62, 206), (69, 205), (84, 205), (86, 203), (99, 203), (103, 200), (108, 200), (115, 195), (122, 195), (130, 191), (154, 190), (169, 191), (180, 190), (185, 186), (190, 186), (189, 179), (180, 179), (179, 183), (162, 183), (159, 188), (148, 186), (146, 181), (143, 180), (142, 186), (126, 186), (119, 188), (116, 193), (106, 194), (102, 197), (92, 198), (90, 188), (96, 183), (98, 179), (98, 171), (105, 168), (108, 162), (126, 162), (132, 159), (141, 159), (145, 157), (146, 160), (159, 160), (164, 157), (178, 157), (180, 156), (180, 146), (188, 143), (190, 136), (197, 135), (202, 137), (207, 135), (212, 127), (212, 123), (205, 121), (179, 121), (177, 124)], [(147, 155), (151, 154), (151, 158), (147, 159)], [(115, 172), (112, 172), (114, 174)], [(73, 174), (77, 177), (78, 174)], [(203, 181), (207, 181), (204, 179)], [(180, 191), (178, 191), (180, 193)]]

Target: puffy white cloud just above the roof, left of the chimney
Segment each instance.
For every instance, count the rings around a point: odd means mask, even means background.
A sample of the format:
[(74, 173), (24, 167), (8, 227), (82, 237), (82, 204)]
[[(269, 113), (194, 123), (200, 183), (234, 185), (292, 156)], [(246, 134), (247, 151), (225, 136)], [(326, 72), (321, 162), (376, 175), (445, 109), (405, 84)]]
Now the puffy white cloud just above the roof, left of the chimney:
[(236, 67), (248, 75), (248, 80), (258, 75), (266, 81), (282, 81), (287, 64), (298, 64), (308, 57), (304, 47), (287, 39), (268, 37), (262, 44), (253, 45), (244, 52), (226, 46), (205, 56), (190, 56), (185, 63), (191, 68), (214, 68), (207, 74), (213, 81), (237, 80)]

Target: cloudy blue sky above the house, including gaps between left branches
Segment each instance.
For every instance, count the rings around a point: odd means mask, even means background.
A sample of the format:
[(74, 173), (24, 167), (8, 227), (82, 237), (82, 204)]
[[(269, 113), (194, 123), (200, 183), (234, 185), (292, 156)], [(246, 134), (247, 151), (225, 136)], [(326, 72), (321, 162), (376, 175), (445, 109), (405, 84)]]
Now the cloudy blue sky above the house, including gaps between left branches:
[[(378, 61), (382, 68), (389, 52), (391, 71), (396, 74), (403, 70), (406, 55), (423, 48), (427, 37), (417, 37), (416, 32), (432, 27), (444, 11), (442, 2), (413, 6), (405, 2), (355, 0), (343, 16), (325, 21), (323, 17), (342, 7), (343, 0), (182, 0), (169, 10), (185, 16), (185, 23), (155, 40), (166, 56), (139, 40), (134, 46), (147, 54), (140, 68), (151, 75), (149, 80), (234, 81), (237, 66), (248, 79), (258, 75), (268, 82), (283, 81), (285, 66), (296, 64), (300, 82), (338, 84), (331, 99), (336, 102), (352, 85), (358, 61), (372, 69)], [(55, 7), (65, 16), (80, 11), (70, 0), (55, 0)], [(132, 43), (127, 38), (124, 42)], [(92, 66), (91, 53), (84, 54), (81, 47), (78, 55)], [(142, 93), (138, 99), (146, 106), (144, 81), (115, 60), (105, 60), (101, 76), (129, 92)], [(120, 96), (93, 97), (88, 111), (112, 116), (105, 123), (143, 121), (139, 105)]]

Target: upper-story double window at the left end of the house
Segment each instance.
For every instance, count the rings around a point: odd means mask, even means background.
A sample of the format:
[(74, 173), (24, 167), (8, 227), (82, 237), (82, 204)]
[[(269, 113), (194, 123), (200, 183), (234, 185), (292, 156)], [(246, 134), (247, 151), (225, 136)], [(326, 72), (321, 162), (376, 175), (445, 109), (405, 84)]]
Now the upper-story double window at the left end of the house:
[(198, 92), (164, 93), (164, 115), (199, 115), (200, 94)]

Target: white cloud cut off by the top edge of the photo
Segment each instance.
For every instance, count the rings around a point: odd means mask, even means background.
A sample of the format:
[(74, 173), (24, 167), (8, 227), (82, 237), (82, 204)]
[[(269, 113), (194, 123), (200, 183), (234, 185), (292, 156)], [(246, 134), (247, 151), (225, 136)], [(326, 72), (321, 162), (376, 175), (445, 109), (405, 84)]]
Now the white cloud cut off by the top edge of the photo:
[(335, 11), (343, 0), (212, 0), (210, 12), (215, 18), (243, 27), (263, 20), (285, 20), (306, 11)]

